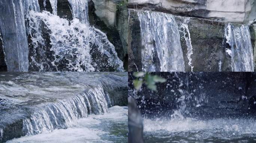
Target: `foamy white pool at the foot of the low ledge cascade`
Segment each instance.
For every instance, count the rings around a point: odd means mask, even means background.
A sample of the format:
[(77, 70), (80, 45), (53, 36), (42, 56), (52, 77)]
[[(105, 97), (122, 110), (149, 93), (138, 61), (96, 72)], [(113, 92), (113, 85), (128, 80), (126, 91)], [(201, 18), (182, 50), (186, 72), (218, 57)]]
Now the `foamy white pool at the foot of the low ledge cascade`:
[(9, 140), (7, 143), (127, 143), (128, 107), (109, 108), (104, 115), (89, 115), (67, 129)]

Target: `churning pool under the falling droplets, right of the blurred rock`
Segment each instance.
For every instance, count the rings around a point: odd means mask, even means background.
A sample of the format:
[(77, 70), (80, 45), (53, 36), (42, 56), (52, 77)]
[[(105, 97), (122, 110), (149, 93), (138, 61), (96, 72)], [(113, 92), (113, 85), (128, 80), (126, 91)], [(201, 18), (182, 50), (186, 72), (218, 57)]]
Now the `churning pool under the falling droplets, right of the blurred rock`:
[(256, 120), (144, 119), (146, 143), (255, 143)]

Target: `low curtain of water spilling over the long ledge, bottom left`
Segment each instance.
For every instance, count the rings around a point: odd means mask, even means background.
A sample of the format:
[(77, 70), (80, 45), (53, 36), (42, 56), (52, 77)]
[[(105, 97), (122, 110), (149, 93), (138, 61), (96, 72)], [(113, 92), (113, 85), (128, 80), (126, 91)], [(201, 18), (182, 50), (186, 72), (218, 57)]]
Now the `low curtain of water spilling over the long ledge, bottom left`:
[[(101, 74), (107, 75), (107, 73)], [(95, 83), (96, 85), (94, 84), (79, 94), (70, 95), (70, 98), (57, 99), (45, 104), (35, 104), (32, 107), (19, 107), (18, 105), (17, 108), (22, 110), (20, 111), (22, 115), (18, 115), (15, 119), (10, 119), (7, 122), (1, 120), (0, 142), (25, 135), (72, 127), (76, 125), (79, 118), (86, 118), (89, 114), (104, 114), (108, 112), (108, 107), (115, 105), (127, 106), (128, 87), (125, 74), (113, 74), (116, 75), (114, 79), (121, 76), (114, 84), (110, 84), (106, 80), (111, 78), (111, 74), (109, 74), (106, 79), (100, 79), (99, 85)]]

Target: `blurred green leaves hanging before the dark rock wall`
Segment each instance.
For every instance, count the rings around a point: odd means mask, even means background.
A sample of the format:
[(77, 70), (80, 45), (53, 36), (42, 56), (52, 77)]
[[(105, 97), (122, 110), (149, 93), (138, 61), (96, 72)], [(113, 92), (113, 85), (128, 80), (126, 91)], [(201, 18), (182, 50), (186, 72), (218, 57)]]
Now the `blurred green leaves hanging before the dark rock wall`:
[(136, 79), (133, 80), (133, 85), (136, 90), (140, 90), (141, 86), (145, 84), (147, 88), (157, 92), (156, 83), (166, 82), (166, 79), (157, 75), (151, 75), (148, 72), (134, 72), (133, 76), (136, 77)]

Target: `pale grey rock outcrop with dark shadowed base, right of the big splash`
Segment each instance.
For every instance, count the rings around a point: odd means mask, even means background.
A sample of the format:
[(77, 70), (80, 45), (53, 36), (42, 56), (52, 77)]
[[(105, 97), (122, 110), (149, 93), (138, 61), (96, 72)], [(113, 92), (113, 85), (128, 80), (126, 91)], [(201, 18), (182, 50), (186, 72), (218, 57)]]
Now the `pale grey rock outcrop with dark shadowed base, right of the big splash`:
[(89, 0), (89, 23), (107, 34), (128, 69), (128, 8), (124, 0)]

